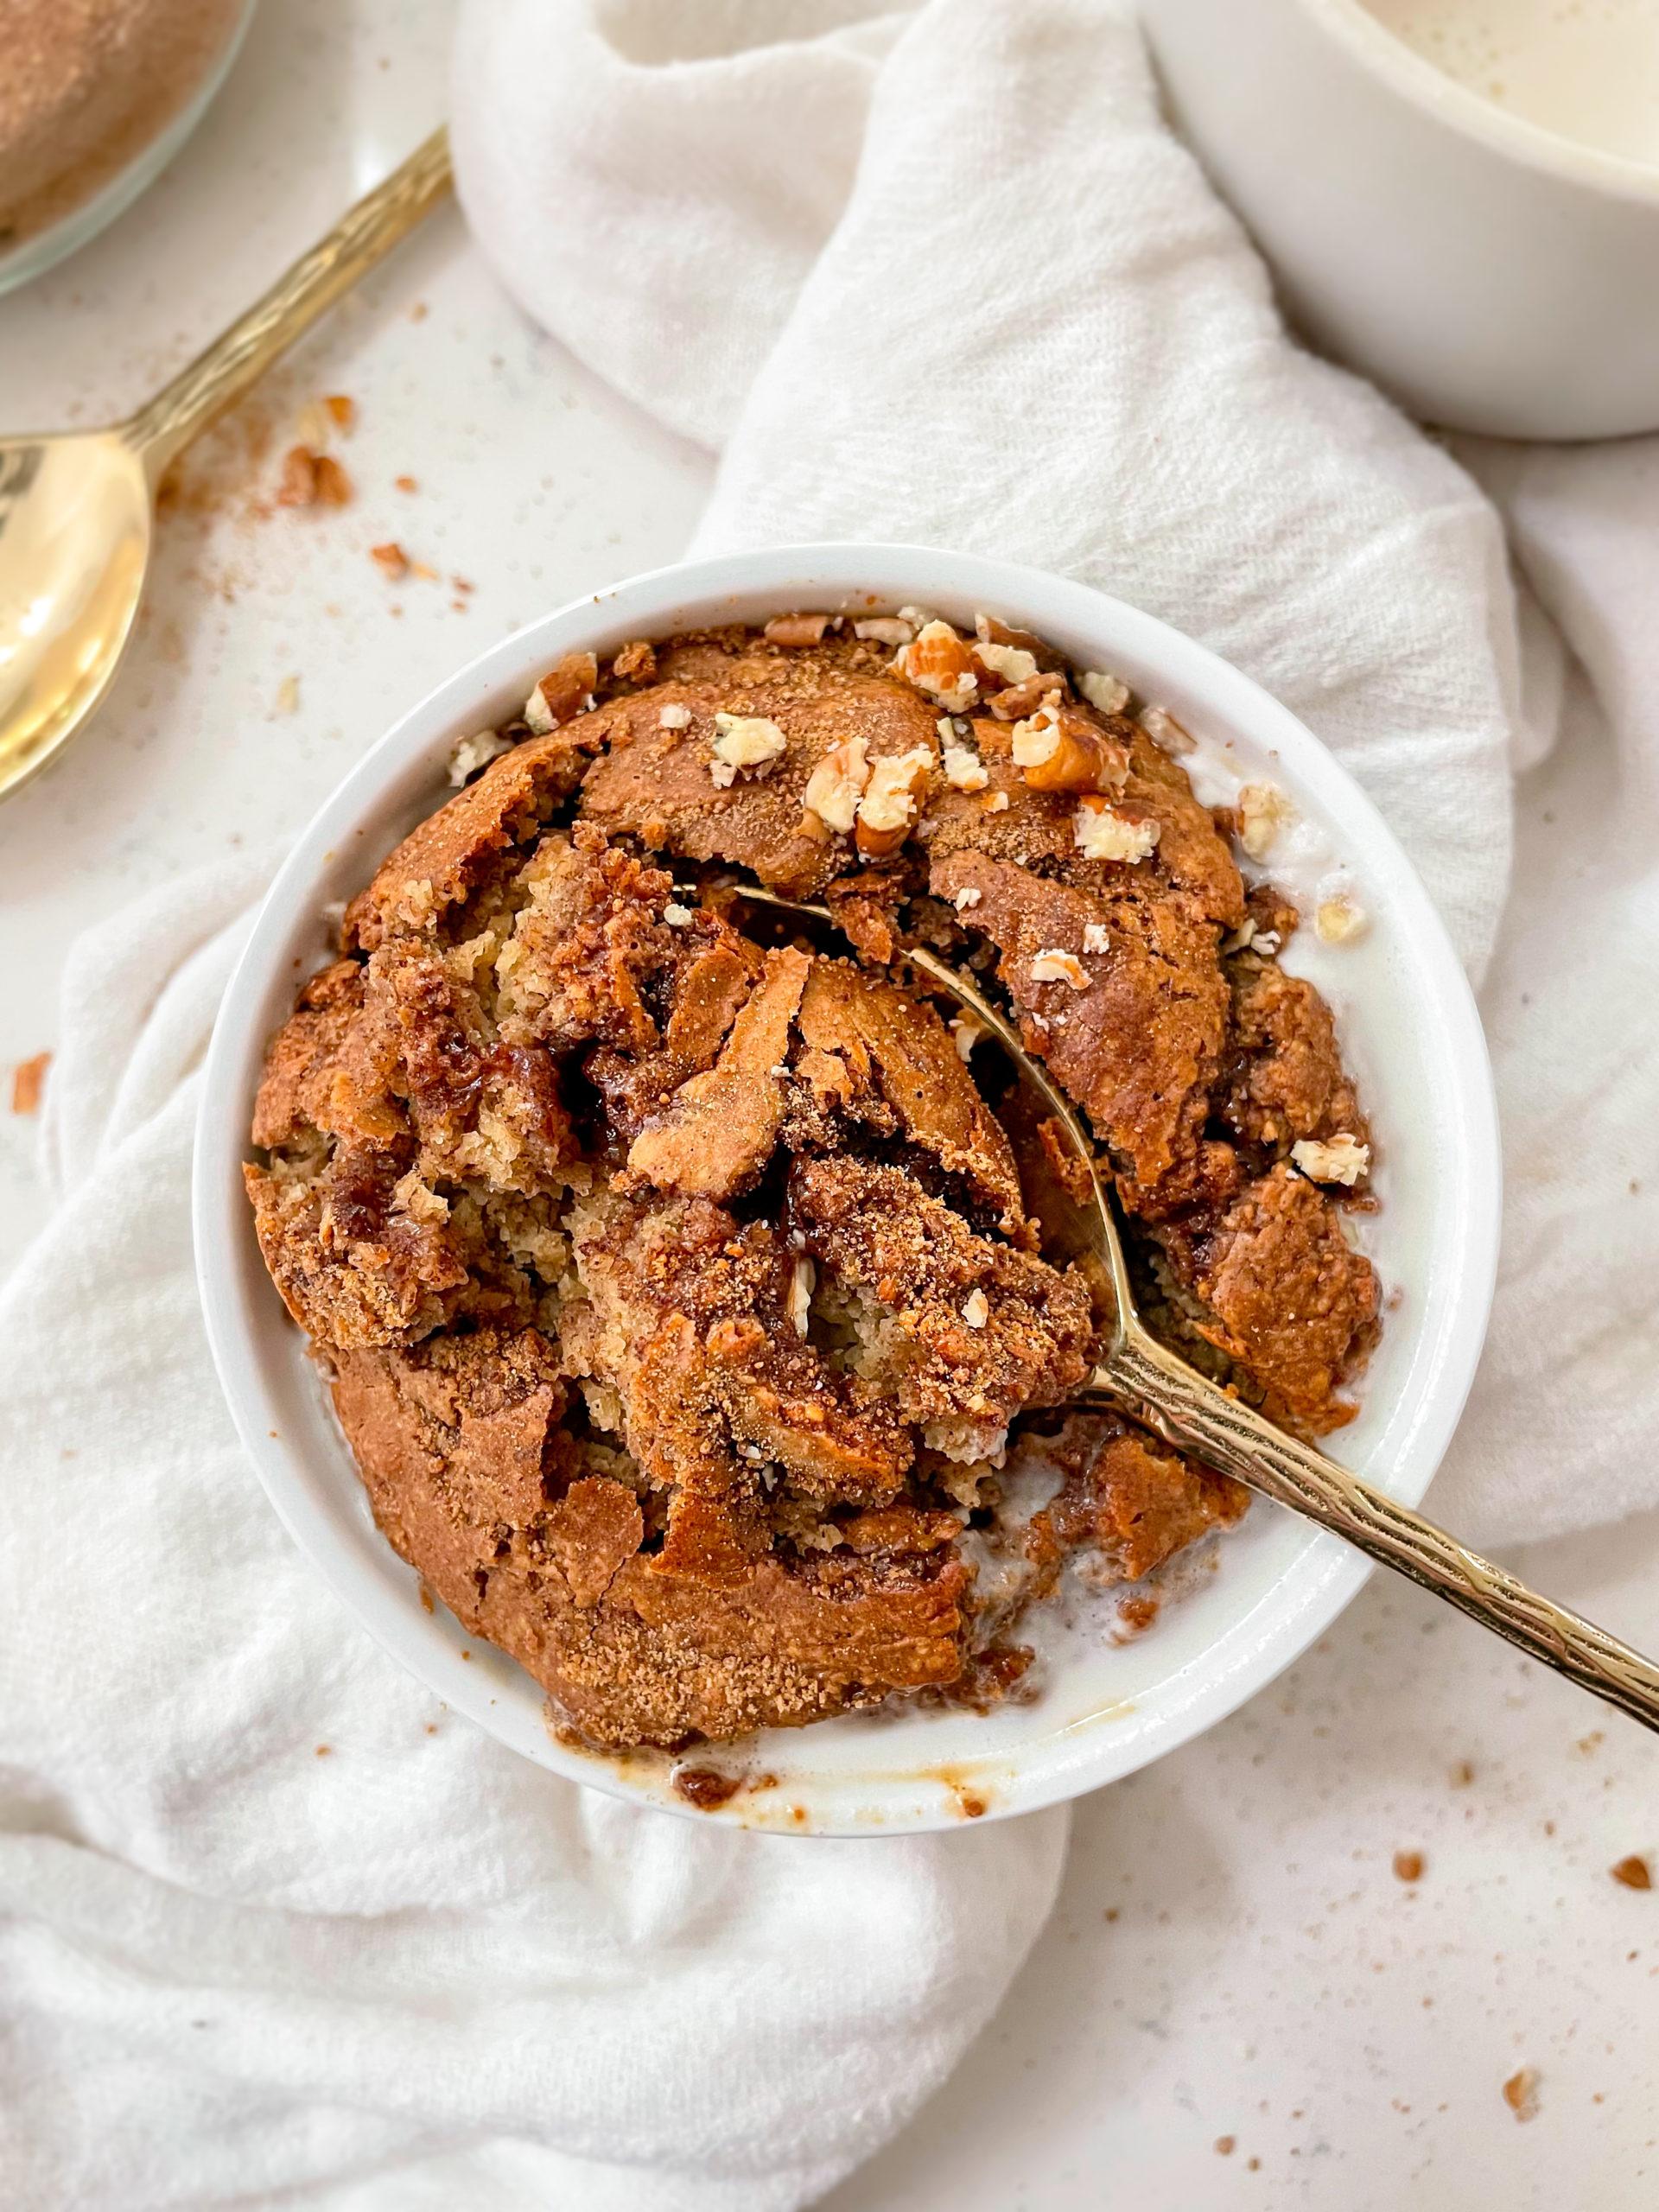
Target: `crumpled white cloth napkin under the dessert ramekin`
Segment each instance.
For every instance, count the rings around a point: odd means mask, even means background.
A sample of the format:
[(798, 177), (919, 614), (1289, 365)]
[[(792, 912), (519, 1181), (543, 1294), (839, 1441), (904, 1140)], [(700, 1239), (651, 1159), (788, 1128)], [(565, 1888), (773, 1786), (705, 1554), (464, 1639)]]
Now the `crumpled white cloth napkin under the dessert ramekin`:
[[(1655, 449), (1464, 453), (1555, 617), (1517, 626), (1491, 504), (1287, 345), (1108, 0), (467, 0), (453, 122), (526, 307), (726, 447), (703, 546), (1066, 568), (1349, 761), (1491, 969), (1509, 1252), (1436, 1502), (1498, 1542), (1659, 1495)], [(190, 1068), (261, 880), (80, 947), (60, 1208), (0, 1296), (0, 2197), (805, 2203), (998, 2002), (1064, 1814), (860, 1845), (639, 1814), (334, 1606), (190, 1285)]]

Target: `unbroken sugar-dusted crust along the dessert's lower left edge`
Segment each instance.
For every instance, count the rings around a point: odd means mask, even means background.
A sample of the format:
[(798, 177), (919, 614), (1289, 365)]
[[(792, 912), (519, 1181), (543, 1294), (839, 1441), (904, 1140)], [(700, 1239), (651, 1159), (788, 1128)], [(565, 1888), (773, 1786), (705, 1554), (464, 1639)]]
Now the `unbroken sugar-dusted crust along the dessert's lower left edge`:
[(956, 1677), (967, 1571), (922, 1515), (863, 1515), (830, 1559), (648, 1551), (637, 1493), (560, 1425), (566, 1391), (535, 1332), (352, 1352), (334, 1376), (394, 1548), (591, 1743), (801, 1725)]

